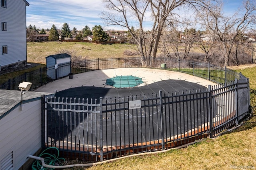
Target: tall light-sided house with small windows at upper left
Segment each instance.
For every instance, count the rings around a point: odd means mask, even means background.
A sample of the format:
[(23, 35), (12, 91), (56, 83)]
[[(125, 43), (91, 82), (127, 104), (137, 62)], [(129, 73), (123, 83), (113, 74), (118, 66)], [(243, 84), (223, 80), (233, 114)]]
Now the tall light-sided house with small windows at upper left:
[(1, 0), (0, 67), (26, 65), (26, 0)]

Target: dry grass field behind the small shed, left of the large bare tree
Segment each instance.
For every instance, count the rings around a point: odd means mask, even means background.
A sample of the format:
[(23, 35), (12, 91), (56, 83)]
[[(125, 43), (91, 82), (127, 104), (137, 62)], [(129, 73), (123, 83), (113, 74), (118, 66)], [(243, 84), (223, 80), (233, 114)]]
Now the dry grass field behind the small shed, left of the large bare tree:
[(82, 58), (124, 57), (124, 51), (136, 52), (136, 46), (129, 44), (96, 44), (87, 42), (40, 42), (27, 43), (28, 62), (46, 64), (45, 57), (60, 53), (60, 51), (74, 51)]

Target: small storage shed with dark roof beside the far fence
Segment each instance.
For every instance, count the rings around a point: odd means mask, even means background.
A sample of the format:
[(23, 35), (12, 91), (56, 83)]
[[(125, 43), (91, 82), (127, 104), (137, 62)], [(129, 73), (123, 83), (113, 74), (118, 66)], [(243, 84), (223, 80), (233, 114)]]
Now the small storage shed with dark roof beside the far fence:
[(71, 73), (71, 55), (67, 53), (46, 57), (47, 75), (52, 79), (68, 76)]

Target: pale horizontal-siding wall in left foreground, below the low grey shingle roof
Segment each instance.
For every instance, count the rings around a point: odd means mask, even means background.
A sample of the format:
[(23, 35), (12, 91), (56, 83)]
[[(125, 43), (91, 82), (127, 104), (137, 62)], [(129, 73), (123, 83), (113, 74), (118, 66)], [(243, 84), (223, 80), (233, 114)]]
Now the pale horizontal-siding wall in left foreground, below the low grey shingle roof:
[(18, 170), (28, 155), (41, 148), (41, 99), (24, 103), (8, 113), (0, 119), (0, 129), (0, 144), (4, 146), (0, 147), (0, 161), (13, 152), (13, 167)]

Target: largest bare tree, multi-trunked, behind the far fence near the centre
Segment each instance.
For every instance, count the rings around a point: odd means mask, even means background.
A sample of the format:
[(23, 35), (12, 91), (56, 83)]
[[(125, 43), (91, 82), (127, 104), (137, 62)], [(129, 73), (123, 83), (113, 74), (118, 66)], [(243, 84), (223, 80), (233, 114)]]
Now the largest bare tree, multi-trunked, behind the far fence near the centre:
[[(174, 10), (184, 6), (206, 6), (204, 3), (208, 1), (212, 0), (102, 0), (109, 10), (102, 12), (102, 19), (107, 25), (128, 29), (140, 55), (149, 65), (150, 59), (156, 57), (162, 31), (167, 24), (177, 22)], [(152, 24), (146, 26), (147, 22)], [(132, 26), (138, 27), (138, 34), (132, 32)], [(145, 30), (150, 30), (149, 34)]]

